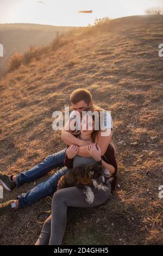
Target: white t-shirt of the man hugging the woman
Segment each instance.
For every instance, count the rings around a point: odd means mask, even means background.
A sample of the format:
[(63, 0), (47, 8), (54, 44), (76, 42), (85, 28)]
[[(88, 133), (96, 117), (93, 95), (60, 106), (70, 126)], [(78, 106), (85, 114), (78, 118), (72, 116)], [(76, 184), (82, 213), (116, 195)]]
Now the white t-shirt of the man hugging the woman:
[[(111, 128), (111, 135), (113, 132), (113, 121), (111, 114), (108, 111), (102, 109), (103, 118), (100, 124), (101, 130), (104, 131), (105, 129)], [(76, 130), (80, 130), (80, 113), (76, 110), (73, 110), (70, 114), (70, 120), (74, 120), (76, 122)]]

